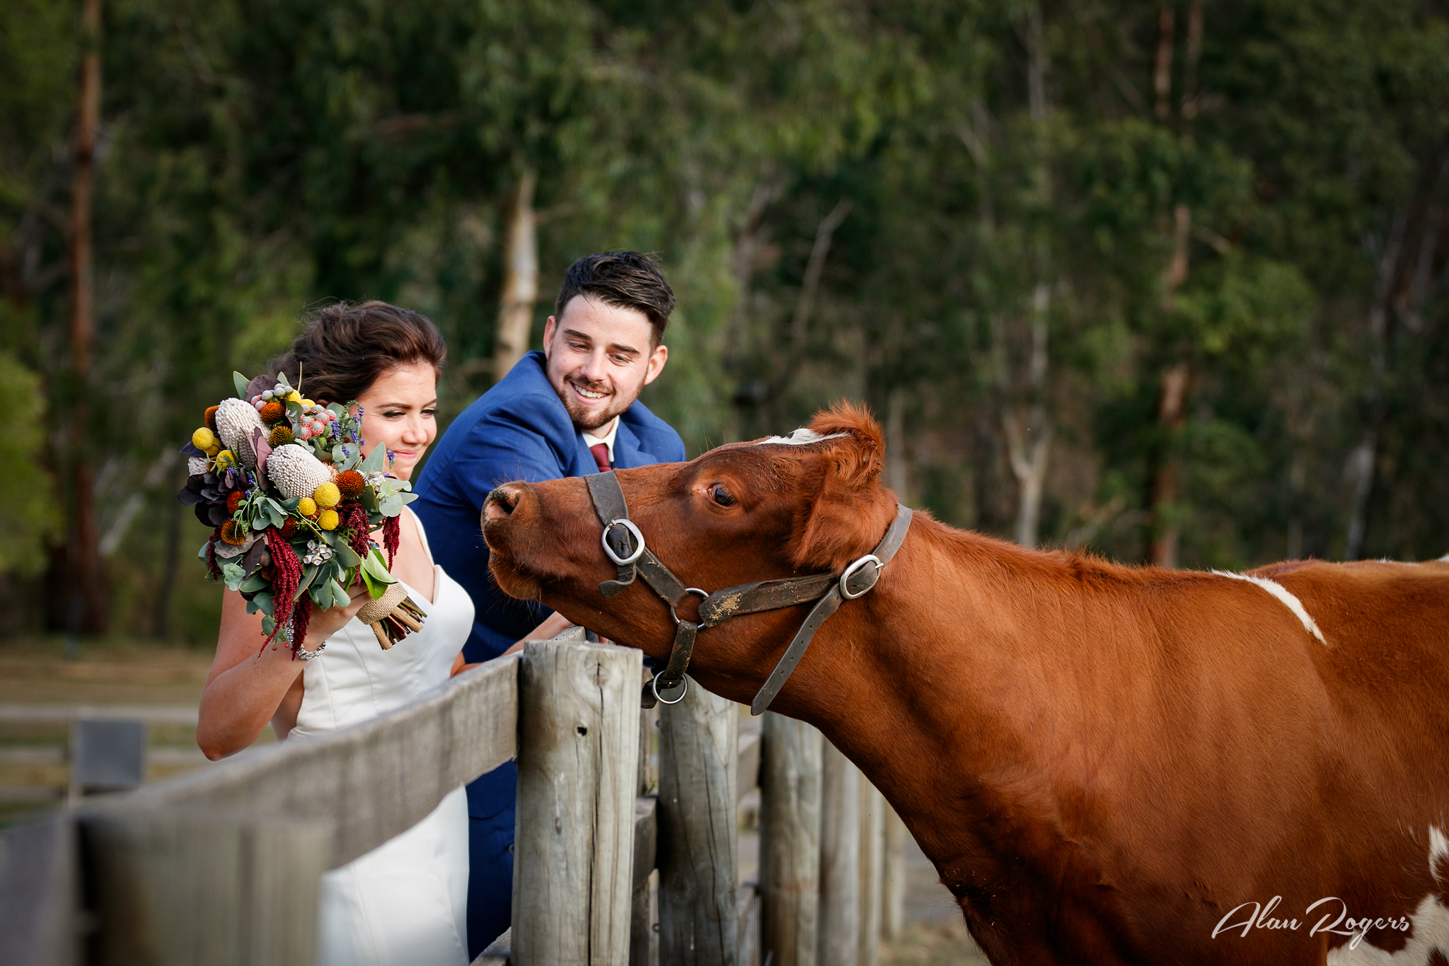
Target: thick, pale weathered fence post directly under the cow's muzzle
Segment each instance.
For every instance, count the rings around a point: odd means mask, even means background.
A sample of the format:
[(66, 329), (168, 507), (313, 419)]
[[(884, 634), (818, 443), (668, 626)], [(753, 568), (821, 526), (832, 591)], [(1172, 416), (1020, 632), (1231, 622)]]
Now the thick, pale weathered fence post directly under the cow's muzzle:
[(517, 966), (627, 966), (643, 653), (529, 642), (519, 668)]

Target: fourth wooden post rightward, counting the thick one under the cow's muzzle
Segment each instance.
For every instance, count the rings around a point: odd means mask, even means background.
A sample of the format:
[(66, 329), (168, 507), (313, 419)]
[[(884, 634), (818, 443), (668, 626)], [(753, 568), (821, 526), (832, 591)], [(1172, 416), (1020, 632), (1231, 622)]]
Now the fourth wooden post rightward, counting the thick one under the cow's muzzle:
[(820, 966), (856, 966), (861, 954), (861, 772), (826, 742), (820, 776)]

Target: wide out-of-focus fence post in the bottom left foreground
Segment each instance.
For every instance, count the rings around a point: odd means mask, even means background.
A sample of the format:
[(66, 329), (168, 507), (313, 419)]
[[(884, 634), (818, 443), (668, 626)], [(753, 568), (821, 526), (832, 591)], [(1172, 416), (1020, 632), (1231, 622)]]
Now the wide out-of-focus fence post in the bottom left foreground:
[(199, 808), (81, 814), (100, 966), (313, 966), (332, 824)]

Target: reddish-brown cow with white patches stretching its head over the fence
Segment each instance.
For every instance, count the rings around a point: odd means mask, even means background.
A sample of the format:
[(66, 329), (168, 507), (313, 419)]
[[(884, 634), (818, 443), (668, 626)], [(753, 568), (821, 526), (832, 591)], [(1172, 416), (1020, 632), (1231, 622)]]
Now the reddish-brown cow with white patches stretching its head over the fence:
[[(622, 471), (630, 517), (693, 587), (839, 572), (895, 497), (869, 416), (810, 429)], [(484, 533), (507, 592), (668, 655), (642, 581), (598, 592), (582, 479), (500, 487)], [(749, 702), (807, 610), (701, 631), (691, 676)], [(771, 710), (885, 794), (993, 963), (1443, 966), (1446, 694), (1449, 563), (1129, 568), (917, 514)]]

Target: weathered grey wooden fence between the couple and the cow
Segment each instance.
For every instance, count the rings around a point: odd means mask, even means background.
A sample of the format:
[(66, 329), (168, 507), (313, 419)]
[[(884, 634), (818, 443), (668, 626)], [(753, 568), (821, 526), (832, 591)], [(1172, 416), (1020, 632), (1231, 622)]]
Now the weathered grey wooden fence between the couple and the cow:
[(319, 876), (517, 757), (513, 928), (480, 962), (874, 966), (901, 895), (880, 795), (809, 726), (740, 734), (698, 686), (642, 714), (640, 679), (638, 650), (529, 642), (383, 718), (12, 828), (0, 963), (312, 966)]

